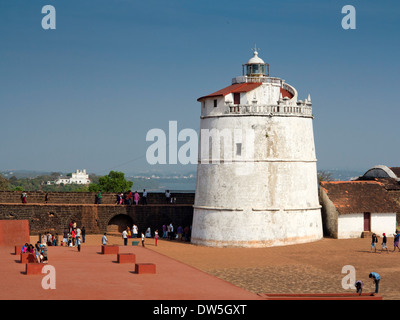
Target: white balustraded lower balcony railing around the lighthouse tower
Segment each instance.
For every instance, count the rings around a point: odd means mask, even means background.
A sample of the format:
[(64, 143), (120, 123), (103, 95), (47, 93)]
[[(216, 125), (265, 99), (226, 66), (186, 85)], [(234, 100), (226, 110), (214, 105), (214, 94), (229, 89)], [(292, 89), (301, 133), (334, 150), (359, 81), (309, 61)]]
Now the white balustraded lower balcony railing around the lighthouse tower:
[(312, 107), (303, 105), (257, 105), (257, 104), (230, 104), (228, 114), (237, 115), (267, 115), (267, 116), (299, 116), (312, 117)]

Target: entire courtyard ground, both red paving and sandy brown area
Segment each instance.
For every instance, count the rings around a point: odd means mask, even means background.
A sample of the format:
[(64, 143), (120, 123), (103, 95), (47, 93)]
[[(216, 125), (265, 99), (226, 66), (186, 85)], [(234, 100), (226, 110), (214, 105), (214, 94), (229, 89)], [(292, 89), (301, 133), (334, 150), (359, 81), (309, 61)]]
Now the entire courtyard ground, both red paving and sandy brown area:
[[(36, 242), (37, 237), (31, 237)], [(57, 272), (56, 290), (43, 290), (42, 276), (26, 276), (13, 248), (0, 248), (0, 299), (151, 299), (255, 300), (266, 293), (348, 293), (342, 288), (351, 265), (363, 280), (364, 292), (374, 285), (371, 271), (382, 276), (383, 299), (400, 299), (400, 253), (370, 252), (370, 239), (323, 239), (313, 243), (262, 249), (209, 248), (146, 239), (146, 247), (120, 247), (137, 254), (138, 262), (157, 264), (156, 275), (137, 275), (131, 265), (99, 254), (100, 235), (87, 236), (82, 251), (50, 247)], [(122, 245), (120, 237), (109, 237)], [(388, 239), (393, 250), (393, 238)], [(5, 276), (7, 275), (7, 276)]]

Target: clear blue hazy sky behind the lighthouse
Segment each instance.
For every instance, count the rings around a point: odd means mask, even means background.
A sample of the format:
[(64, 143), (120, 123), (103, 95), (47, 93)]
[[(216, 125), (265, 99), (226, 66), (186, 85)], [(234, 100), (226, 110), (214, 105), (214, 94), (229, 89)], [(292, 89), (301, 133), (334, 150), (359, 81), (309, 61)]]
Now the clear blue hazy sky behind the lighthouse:
[[(41, 25), (44, 5), (56, 29)], [(356, 9), (344, 30), (342, 7)], [(311, 95), (318, 169), (400, 166), (399, 1), (0, 0), (0, 170), (151, 169), (150, 129), (259, 56)], [(393, 99), (395, 99), (393, 101)], [(195, 166), (159, 166), (193, 170)]]

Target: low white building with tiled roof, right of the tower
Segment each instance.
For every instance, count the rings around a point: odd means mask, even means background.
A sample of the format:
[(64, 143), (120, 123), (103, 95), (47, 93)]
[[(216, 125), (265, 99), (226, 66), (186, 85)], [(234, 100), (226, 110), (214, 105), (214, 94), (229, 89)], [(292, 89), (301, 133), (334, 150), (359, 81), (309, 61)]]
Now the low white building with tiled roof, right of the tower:
[(378, 181), (321, 182), (324, 233), (334, 238), (360, 237), (364, 232), (391, 235), (398, 204)]

